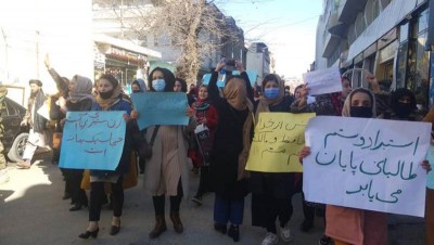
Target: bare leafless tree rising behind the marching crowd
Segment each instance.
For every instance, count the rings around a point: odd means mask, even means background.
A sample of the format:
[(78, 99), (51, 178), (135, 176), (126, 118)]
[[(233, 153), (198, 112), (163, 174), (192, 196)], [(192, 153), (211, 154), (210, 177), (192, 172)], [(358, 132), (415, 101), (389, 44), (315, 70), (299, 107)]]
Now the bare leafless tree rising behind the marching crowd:
[[(110, 7), (123, 30), (143, 38), (145, 34), (164, 37), (180, 51), (178, 76), (195, 81), (201, 65), (210, 55), (219, 55), (228, 42), (244, 44), (242, 30), (207, 0), (93, 0)], [(120, 8), (122, 5), (128, 8)], [(233, 21), (233, 20), (232, 20)]]

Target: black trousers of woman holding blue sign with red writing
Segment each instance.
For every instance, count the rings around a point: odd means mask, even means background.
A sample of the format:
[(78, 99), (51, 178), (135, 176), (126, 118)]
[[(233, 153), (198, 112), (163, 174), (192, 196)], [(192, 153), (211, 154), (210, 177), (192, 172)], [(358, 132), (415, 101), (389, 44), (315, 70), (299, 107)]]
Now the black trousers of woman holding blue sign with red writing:
[[(101, 215), (102, 199), (105, 195), (105, 182), (91, 182), (90, 183), (90, 206), (89, 206), (89, 221), (99, 221)], [(116, 183), (112, 183), (113, 196), (113, 216), (120, 217), (124, 206), (124, 186), (123, 177), (120, 176)]]

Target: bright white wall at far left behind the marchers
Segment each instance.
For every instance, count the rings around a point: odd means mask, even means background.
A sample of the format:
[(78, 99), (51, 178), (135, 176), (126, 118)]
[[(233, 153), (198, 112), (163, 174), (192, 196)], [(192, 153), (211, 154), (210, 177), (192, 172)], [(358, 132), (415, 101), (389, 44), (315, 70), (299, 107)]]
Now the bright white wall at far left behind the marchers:
[[(2, 1), (0, 28), (3, 83), (27, 88), (28, 80), (37, 78), (47, 92), (55, 92), (43, 64), (46, 53), (62, 76), (93, 79), (91, 0)], [(28, 93), (26, 89), (26, 98)]]

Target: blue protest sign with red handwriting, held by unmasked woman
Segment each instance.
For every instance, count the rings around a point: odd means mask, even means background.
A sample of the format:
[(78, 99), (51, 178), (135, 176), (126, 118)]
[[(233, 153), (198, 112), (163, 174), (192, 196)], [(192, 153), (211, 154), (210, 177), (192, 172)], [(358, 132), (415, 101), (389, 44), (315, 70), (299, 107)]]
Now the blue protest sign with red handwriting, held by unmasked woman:
[(124, 149), (126, 112), (68, 112), (59, 166), (115, 170)]

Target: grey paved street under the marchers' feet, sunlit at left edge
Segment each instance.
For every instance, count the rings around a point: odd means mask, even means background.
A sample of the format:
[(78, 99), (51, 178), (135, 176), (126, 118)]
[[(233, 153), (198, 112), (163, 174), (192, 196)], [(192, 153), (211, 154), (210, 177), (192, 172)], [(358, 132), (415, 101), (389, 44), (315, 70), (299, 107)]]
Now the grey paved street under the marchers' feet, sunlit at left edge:
[[(82, 241), (77, 235), (86, 230), (88, 209), (71, 212), (69, 201), (62, 201), (63, 181), (58, 166), (51, 165), (50, 154), (36, 157), (37, 162), (29, 170), (16, 169), (9, 165), (10, 181), (0, 184), (0, 244), (233, 244), (228, 236), (213, 229), (213, 194), (204, 197), (201, 207), (188, 201), (182, 202), (181, 220), (184, 233), (178, 235), (167, 218), (168, 230), (161, 237), (150, 241), (148, 234), (154, 225), (151, 196), (139, 185), (125, 192), (122, 230), (118, 235), (108, 235), (112, 211), (106, 207), (102, 211), (98, 240)], [(197, 186), (199, 177), (191, 176), (191, 193)], [(322, 220), (316, 219), (309, 233), (299, 232), (303, 221), (301, 195), (293, 199), (294, 216), (291, 227), (294, 245), (316, 245), (323, 231)], [(168, 202), (166, 202), (168, 210)], [(391, 217), (390, 244), (423, 245), (423, 220), (411, 217)], [(265, 231), (251, 225), (250, 196), (246, 198), (244, 225), (241, 228), (241, 241), (238, 244), (260, 244)], [(280, 245), (285, 244), (283, 242)]]

